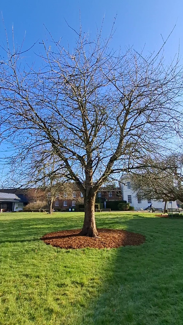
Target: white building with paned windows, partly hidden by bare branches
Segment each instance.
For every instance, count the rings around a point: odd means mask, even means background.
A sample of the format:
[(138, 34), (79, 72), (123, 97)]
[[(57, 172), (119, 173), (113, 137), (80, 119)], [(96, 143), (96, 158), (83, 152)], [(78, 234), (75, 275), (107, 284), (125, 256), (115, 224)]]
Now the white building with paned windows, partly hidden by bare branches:
[[(137, 197), (137, 194), (134, 193), (131, 189), (131, 183), (127, 179), (121, 180), (121, 189), (122, 189), (122, 195), (123, 200), (130, 203), (131, 206), (134, 206), (135, 210), (139, 210), (140, 208), (146, 209), (150, 206), (152, 203), (154, 208), (162, 208), (164, 209), (164, 202), (163, 201), (156, 201), (156, 200), (142, 200), (140, 197)], [(169, 201), (167, 202), (166, 208), (173, 209), (177, 208), (176, 201)]]

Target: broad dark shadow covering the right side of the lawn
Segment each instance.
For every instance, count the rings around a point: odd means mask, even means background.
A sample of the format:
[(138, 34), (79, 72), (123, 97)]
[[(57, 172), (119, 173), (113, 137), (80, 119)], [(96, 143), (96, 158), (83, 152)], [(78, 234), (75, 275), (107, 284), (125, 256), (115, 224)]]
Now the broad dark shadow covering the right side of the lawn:
[(99, 296), (73, 324), (182, 324), (183, 222), (162, 219), (127, 222), (146, 242), (111, 250)]

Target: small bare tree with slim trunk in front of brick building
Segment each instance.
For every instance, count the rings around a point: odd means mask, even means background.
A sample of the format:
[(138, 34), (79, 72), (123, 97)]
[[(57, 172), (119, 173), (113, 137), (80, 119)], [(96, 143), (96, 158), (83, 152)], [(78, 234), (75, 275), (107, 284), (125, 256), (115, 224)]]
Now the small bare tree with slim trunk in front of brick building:
[(29, 150), (26, 159), (19, 160), (15, 156), (7, 162), (11, 165), (13, 184), (21, 187), (26, 185), (29, 196), (32, 195), (36, 201), (46, 201), (49, 214), (52, 214), (54, 200), (64, 199), (65, 193), (67, 198), (72, 197), (75, 184), (68, 182), (66, 170), (49, 147), (33, 148)]

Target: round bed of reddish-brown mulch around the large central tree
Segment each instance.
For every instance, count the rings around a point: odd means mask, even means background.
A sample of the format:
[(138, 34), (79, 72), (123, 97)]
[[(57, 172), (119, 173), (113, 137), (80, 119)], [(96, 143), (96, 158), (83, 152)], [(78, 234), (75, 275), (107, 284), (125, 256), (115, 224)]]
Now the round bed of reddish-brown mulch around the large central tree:
[(84, 247), (116, 248), (127, 245), (140, 245), (145, 241), (143, 235), (121, 229), (100, 228), (97, 230), (99, 238), (79, 236), (81, 229), (71, 229), (50, 232), (44, 235), (41, 240), (48, 245), (65, 249)]

